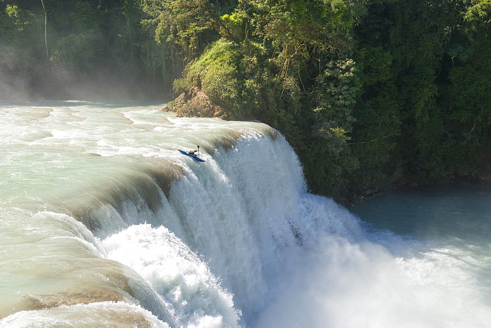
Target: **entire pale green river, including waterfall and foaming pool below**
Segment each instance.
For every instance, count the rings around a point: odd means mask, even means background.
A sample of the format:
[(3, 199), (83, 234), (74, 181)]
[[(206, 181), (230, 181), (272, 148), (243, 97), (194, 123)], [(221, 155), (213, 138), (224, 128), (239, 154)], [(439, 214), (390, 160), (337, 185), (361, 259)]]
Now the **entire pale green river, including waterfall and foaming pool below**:
[(489, 194), (360, 220), (271, 127), (158, 105), (1, 103), (0, 327), (491, 326)]

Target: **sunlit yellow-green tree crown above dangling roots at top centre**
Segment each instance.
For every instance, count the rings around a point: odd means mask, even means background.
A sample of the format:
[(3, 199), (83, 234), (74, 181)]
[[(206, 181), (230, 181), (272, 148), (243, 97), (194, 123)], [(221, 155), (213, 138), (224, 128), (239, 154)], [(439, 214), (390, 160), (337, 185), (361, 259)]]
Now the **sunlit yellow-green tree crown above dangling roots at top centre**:
[(343, 1), (251, 1), (255, 33), (273, 45), (284, 78), (292, 66), (324, 52), (348, 51), (353, 16)]

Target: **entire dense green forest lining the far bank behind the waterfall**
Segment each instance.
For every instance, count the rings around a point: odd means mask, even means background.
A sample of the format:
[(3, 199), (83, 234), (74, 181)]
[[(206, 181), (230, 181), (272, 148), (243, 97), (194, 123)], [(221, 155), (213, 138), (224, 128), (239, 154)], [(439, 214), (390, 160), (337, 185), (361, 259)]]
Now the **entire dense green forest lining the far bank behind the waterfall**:
[(277, 128), (338, 200), (489, 177), (490, 54), (491, 0), (0, 0), (0, 98), (172, 91)]

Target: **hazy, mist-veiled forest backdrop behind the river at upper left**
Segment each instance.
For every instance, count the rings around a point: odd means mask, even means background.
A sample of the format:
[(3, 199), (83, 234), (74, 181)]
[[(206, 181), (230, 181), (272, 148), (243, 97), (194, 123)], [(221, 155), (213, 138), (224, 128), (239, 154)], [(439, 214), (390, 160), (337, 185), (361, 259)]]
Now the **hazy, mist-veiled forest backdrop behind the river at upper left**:
[(141, 32), (140, 11), (119, 1), (41, 4), (0, 2), (0, 99), (169, 98), (176, 76), (149, 58), (155, 41)]

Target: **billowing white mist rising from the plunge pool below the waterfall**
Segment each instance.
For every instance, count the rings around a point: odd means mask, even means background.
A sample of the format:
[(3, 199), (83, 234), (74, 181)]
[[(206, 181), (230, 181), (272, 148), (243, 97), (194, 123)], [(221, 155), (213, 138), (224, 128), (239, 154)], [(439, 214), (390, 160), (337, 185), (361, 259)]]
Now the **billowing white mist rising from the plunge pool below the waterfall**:
[(476, 297), (472, 275), (451, 255), (415, 246), (405, 246), (412, 248), (409, 257), (394, 258), (368, 240), (325, 236), (310, 256), (292, 257), (290, 275), (278, 281), (278, 294), (251, 326), (485, 325), (489, 308)]

